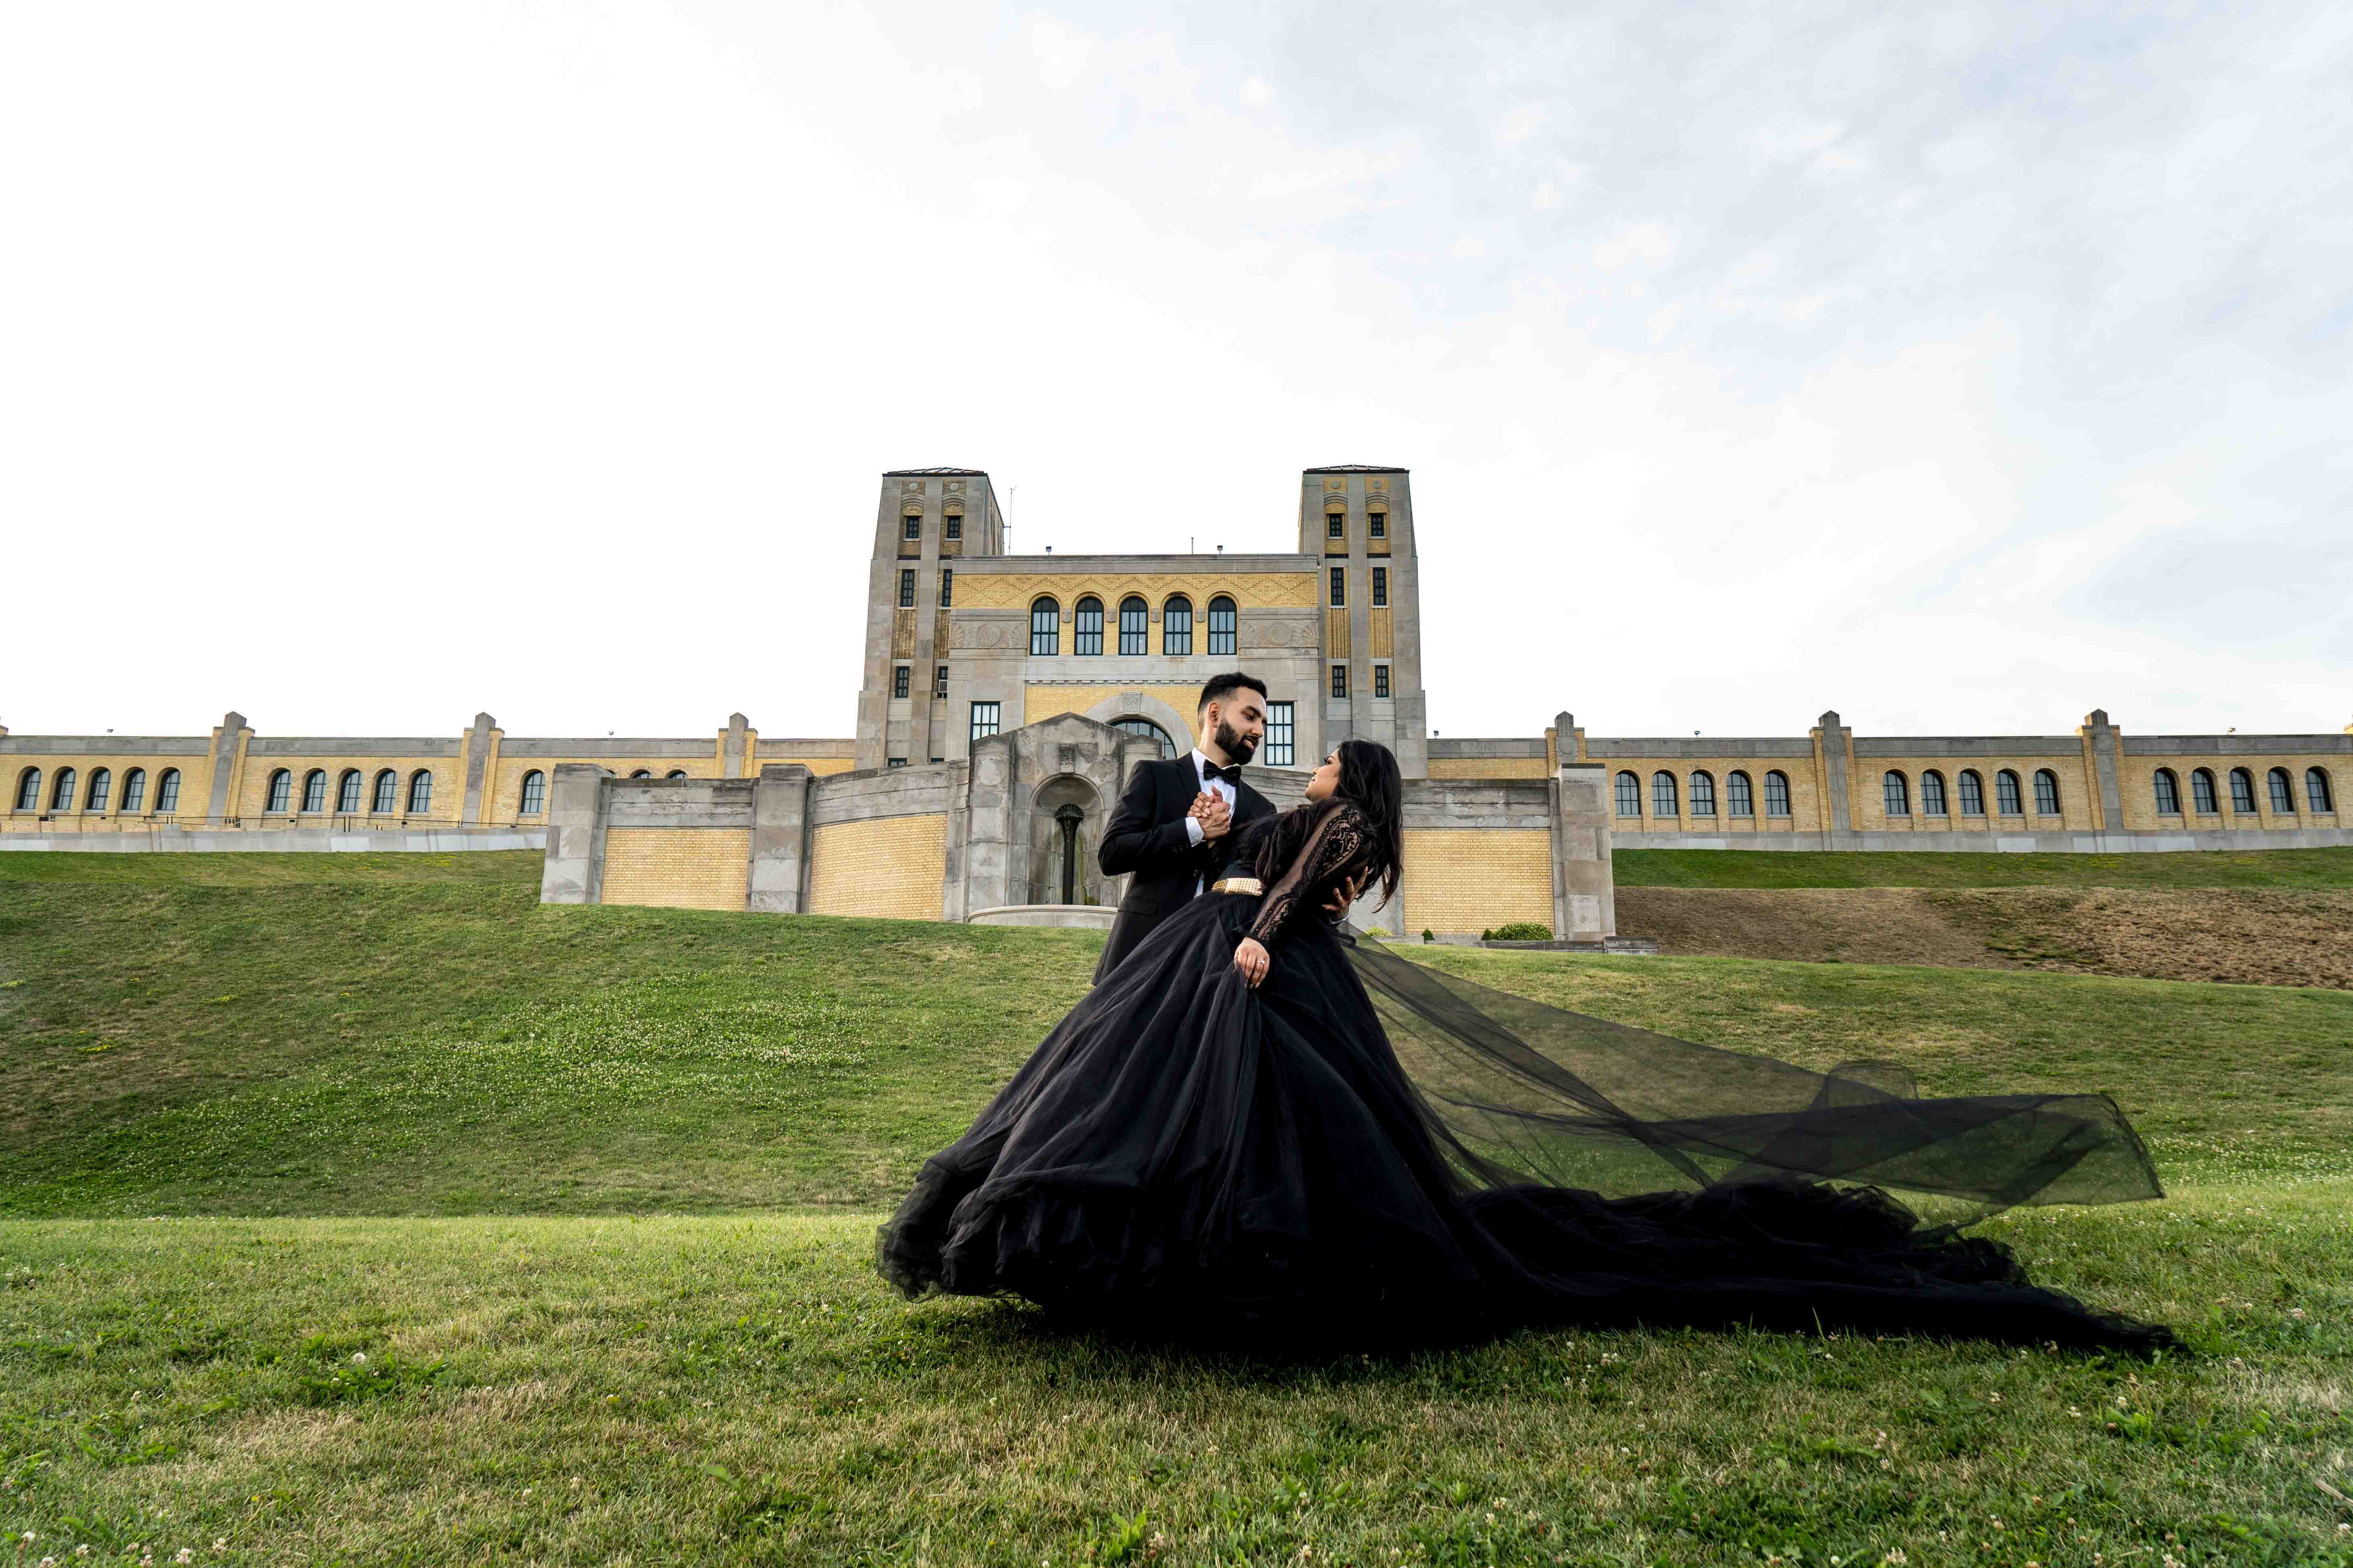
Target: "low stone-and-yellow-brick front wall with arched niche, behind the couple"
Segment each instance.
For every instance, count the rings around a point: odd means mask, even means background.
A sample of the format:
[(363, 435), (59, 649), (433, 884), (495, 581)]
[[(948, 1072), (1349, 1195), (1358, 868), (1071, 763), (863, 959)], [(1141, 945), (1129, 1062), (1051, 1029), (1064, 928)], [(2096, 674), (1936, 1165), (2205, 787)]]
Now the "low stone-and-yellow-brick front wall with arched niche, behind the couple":
[[(765, 914), (1108, 924), (1122, 877), (1101, 832), (1158, 743), (1082, 715), (984, 736), (969, 759), (816, 778), (616, 778), (562, 764), (551, 795), (544, 903), (638, 903)], [(1278, 809), (1306, 773), (1252, 769)], [(1405, 879), (1355, 922), (1475, 933), (1539, 922), (1584, 940), (1617, 931), (1602, 769), (1555, 778), (1405, 783)]]

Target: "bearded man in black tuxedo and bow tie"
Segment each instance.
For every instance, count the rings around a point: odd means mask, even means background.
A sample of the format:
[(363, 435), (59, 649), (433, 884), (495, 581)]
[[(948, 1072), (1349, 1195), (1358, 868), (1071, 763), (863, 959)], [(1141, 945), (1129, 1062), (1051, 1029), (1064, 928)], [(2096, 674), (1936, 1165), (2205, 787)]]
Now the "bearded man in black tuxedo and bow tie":
[(1106, 877), (1127, 877), (1127, 896), (1094, 966), (1096, 980), (1207, 889), (1233, 851), (1233, 835), (1275, 813), (1242, 783), (1242, 764), (1266, 741), (1266, 682), (1240, 670), (1212, 677), (1200, 689), (1195, 731), (1200, 745), (1191, 755), (1134, 771), (1104, 830), (1096, 865)]

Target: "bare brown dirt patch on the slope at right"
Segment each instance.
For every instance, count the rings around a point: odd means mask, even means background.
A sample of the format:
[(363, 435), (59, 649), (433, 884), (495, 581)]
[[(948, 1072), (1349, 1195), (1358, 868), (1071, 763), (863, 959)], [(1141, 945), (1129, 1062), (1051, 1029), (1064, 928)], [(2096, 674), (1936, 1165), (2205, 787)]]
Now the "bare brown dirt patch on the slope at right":
[(1675, 954), (2353, 990), (2344, 891), (1626, 886), (1617, 907)]

